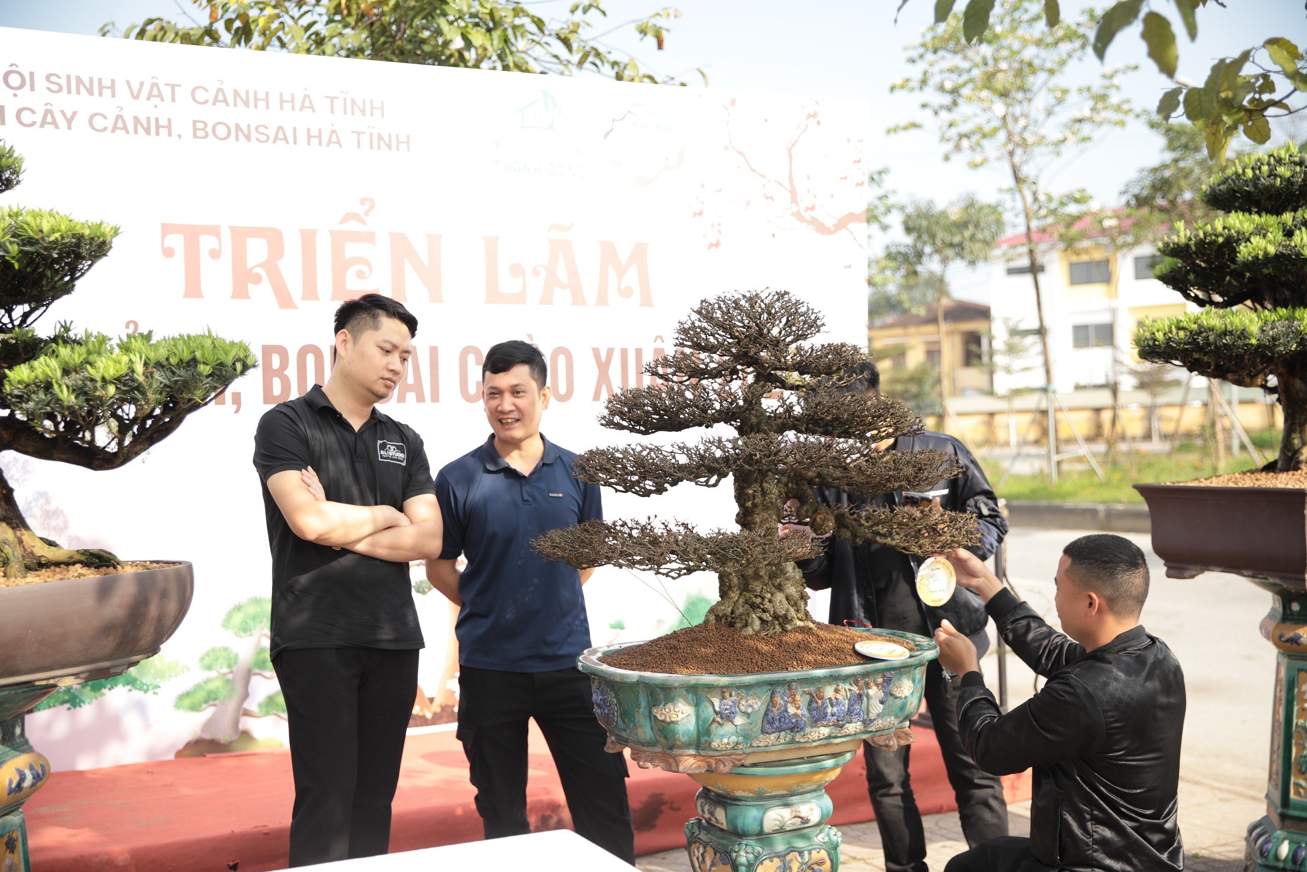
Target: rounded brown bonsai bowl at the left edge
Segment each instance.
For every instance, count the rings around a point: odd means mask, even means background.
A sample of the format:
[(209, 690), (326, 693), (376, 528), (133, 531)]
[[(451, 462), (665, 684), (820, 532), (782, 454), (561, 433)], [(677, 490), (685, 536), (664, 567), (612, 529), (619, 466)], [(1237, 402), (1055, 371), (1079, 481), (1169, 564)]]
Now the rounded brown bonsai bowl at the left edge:
[(173, 635), (195, 590), (191, 563), (0, 588), (0, 686), (119, 675)]

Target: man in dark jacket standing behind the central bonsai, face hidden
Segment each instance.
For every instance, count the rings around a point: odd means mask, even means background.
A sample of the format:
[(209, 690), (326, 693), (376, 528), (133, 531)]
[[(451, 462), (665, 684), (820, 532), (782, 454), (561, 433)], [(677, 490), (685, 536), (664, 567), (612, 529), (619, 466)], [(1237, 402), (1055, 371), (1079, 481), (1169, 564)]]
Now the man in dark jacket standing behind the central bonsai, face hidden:
[[(856, 371), (860, 380), (851, 384), (851, 390), (880, 390), (880, 373), (874, 363), (861, 363)], [(976, 515), (980, 522), (980, 544), (971, 550), (980, 560), (988, 558), (1008, 533), (1008, 522), (999, 514), (999, 501), (980, 464), (961, 442), (941, 433), (901, 437), (893, 446), (886, 446), (890, 451), (920, 448), (946, 451), (961, 463), (961, 476), (936, 484), (925, 494), (937, 501), (941, 509)], [(831, 489), (818, 489), (817, 495), (826, 505), (865, 502)], [(895, 493), (874, 502), (897, 506), (903, 499), (903, 494)], [(920, 558), (894, 548), (873, 543), (855, 546), (848, 540), (831, 537), (826, 543), (825, 554), (800, 561), (799, 569), (808, 587), (830, 588), (831, 624), (853, 620), (887, 630), (931, 635), (942, 620), (948, 620), (974, 637), (979, 646), (988, 646), (984, 628), (989, 618), (980, 597), (959, 588), (944, 605), (927, 607), (916, 595), (916, 570), (920, 563)], [(938, 663), (932, 662), (927, 667), (925, 705), (940, 743), (949, 783), (958, 800), (962, 831), (967, 845), (976, 846), (1008, 834), (1008, 805), (1000, 779), (976, 766), (962, 744), (957, 718), (958, 689), (957, 681), (946, 679)], [(885, 850), (886, 872), (925, 872), (925, 833), (908, 778), (910, 749), (904, 746), (889, 752), (864, 744), (863, 753), (867, 757), (868, 792)]]

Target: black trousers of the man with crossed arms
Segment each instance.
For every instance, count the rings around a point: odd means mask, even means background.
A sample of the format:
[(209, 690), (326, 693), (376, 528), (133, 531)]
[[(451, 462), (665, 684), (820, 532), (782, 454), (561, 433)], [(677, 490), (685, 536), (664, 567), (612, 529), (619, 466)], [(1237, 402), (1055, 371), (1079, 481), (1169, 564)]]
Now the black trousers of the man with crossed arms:
[(277, 652), (295, 777), (290, 865), (386, 854), (417, 658), (416, 648)]

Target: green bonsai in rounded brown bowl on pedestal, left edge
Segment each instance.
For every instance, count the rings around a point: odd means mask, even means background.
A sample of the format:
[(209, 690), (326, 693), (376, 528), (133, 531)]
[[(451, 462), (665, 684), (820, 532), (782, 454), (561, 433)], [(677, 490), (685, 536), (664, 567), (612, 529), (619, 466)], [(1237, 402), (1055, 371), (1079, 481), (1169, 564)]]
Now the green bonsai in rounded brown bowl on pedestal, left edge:
[[(0, 143), (0, 193), (21, 174), (22, 158)], [(46, 209), (0, 209), (0, 451), (115, 469), (255, 366), (244, 343), (209, 333), (112, 340), (68, 324), (39, 333), (34, 323), (116, 234)], [(25, 714), (59, 688), (119, 676), (158, 652), (191, 592), (187, 562), (123, 561), (38, 536), (0, 472), (0, 867), (27, 871), (21, 807), (50, 774), (24, 735)]]

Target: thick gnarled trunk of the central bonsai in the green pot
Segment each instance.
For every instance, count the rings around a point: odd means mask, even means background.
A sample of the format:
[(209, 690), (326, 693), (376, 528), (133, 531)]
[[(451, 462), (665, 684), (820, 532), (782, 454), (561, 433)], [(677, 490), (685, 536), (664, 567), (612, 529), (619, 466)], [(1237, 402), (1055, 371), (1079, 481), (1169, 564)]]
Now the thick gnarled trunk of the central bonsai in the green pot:
[[(780, 486), (771, 476), (737, 471), (735, 475), (736, 523), (775, 536), (780, 523)], [(706, 624), (723, 624), (749, 633), (784, 633), (812, 626), (808, 588), (793, 563), (738, 566), (718, 573), (720, 599), (704, 616)]]

